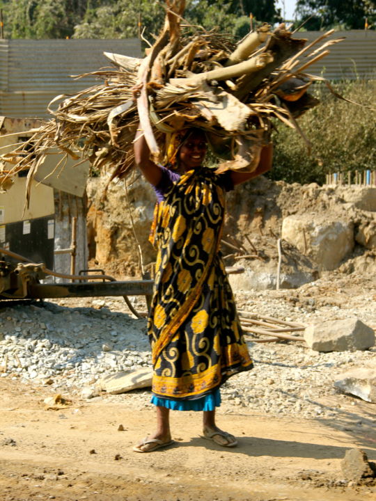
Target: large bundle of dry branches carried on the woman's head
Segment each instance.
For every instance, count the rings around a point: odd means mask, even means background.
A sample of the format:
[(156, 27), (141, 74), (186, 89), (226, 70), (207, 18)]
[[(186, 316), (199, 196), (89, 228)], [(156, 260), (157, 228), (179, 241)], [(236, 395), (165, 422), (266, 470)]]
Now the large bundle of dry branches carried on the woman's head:
[[(204, 129), (223, 159), (219, 171), (256, 168), (272, 119), (303, 134), (296, 119), (318, 104), (307, 89), (320, 79), (306, 69), (341, 39), (325, 41), (329, 31), (304, 47), (306, 40), (293, 38), (284, 24), (273, 32), (263, 24), (235, 46), (227, 35), (182, 24), (184, 9), (185, 1), (166, 0), (164, 28), (145, 58), (106, 54), (113, 66), (91, 73), (100, 84), (56, 97), (49, 104), (54, 118), (3, 155), (13, 167), (2, 180), (24, 169), (31, 179), (56, 146), (77, 163), (89, 159), (97, 173), (110, 170), (111, 180), (126, 177), (134, 164), (139, 122), (157, 161), (163, 159), (169, 134), (188, 126)], [(140, 83), (134, 102), (132, 87)]]

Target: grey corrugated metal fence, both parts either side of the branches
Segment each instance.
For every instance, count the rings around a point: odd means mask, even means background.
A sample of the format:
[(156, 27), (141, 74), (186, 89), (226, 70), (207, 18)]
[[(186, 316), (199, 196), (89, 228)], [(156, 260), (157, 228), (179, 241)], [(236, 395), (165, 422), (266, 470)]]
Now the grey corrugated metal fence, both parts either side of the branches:
[[(318, 38), (322, 32), (296, 33)], [(331, 38), (345, 40), (330, 47), (331, 54), (309, 68), (327, 79), (375, 78), (376, 32), (343, 31)], [(138, 39), (127, 40), (0, 40), (0, 115), (48, 118), (47, 104), (56, 95), (76, 93), (95, 84), (83, 74), (109, 66), (103, 52), (141, 57)]]

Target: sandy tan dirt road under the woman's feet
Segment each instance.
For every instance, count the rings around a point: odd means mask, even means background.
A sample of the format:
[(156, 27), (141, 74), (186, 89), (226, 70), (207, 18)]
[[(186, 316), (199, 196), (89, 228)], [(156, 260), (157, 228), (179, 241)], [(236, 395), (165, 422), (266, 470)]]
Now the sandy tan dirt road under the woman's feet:
[(75, 398), (47, 411), (46, 386), (3, 378), (0, 391), (1, 501), (376, 499), (376, 479), (338, 482), (346, 450), (361, 447), (376, 460), (376, 431), (361, 423), (375, 416), (375, 405), (360, 400), (335, 420), (279, 419), (226, 405), (218, 424), (239, 439), (234, 449), (200, 438), (200, 415), (173, 413), (175, 445), (136, 454), (132, 445), (152, 431), (154, 410), (127, 404), (125, 395)]

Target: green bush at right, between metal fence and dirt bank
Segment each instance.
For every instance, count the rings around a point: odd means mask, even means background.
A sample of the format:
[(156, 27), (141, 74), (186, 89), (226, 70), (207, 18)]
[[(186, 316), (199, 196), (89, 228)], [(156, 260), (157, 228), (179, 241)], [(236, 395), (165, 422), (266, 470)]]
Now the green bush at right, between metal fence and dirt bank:
[[(376, 81), (343, 81), (334, 85), (343, 97), (373, 109)], [(299, 118), (299, 125), (312, 143), (311, 154), (295, 130), (276, 125), (273, 136), (274, 167), (268, 174), (286, 182), (325, 182), (334, 172), (375, 170), (375, 111), (338, 100), (324, 84), (315, 89), (321, 104)]]

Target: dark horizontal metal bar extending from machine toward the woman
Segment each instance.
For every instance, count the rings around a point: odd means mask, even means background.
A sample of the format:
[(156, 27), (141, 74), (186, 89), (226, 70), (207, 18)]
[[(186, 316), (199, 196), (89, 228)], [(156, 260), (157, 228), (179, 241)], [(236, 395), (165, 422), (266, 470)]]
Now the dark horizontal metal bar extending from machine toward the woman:
[(145, 296), (152, 294), (154, 280), (114, 282), (30, 284), (26, 298)]

